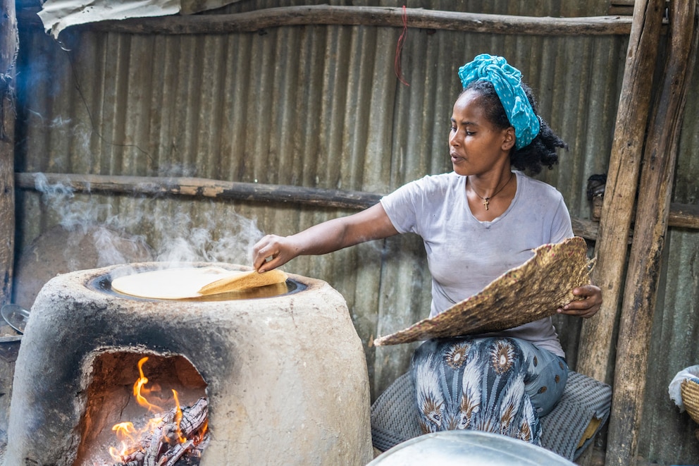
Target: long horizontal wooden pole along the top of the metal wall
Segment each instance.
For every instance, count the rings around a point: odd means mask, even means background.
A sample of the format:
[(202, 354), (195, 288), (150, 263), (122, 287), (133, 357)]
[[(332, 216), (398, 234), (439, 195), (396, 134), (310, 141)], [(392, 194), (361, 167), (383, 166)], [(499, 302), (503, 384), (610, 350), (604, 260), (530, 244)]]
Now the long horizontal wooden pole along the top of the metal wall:
[[(408, 27), (428, 30), (540, 36), (629, 35), (631, 31), (631, 18), (628, 16), (552, 18), (423, 8), (406, 8), (406, 13)], [(297, 25), (403, 27), (402, 14), (400, 7), (307, 5), (266, 8), (246, 13), (106, 20), (73, 27), (126, 34), (234, 34)], [(23, 24), (41, 25), (35, 13), (23, 12), (20, 20)]]

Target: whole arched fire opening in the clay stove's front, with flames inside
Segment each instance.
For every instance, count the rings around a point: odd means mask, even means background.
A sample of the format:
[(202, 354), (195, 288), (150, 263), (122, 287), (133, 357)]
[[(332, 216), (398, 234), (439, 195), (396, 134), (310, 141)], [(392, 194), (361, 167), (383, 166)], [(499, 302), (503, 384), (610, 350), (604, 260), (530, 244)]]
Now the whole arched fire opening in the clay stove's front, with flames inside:
[(98, 352), (74, 466), (199, 465), (208, 443), (206, 382), (182, 355)]

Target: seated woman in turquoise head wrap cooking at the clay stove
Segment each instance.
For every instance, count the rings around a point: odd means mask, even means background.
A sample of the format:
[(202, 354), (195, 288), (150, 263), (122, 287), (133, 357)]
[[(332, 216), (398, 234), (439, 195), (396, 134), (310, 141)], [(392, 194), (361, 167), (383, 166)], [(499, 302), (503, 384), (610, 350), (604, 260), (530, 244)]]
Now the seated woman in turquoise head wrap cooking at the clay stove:
[[(352, 216), (254, 247), (260, 272), (299, 255), (320, 255), (397, 233), (421, 235), (432, 275), (431, 317), (482, 290), (529, 259), (532, 250), (573, 235), (562, 195), (538, 173), (567, 147), (536, 114), (521, 73), (505, 59), (476, 56), (459, 68), (464, 90), (454, 103), (449, 154), (454, 171), (404, 185)], [(516, 171), (512, 171), (516, 168)], [(558, 309), (592, 317), (600, 288)], [(412, 374), (424, 432), (495, 431), (540, 444), (539, 417), (557, 403), (568, 367), (550, 318), (488, 335), (427, 341)]]

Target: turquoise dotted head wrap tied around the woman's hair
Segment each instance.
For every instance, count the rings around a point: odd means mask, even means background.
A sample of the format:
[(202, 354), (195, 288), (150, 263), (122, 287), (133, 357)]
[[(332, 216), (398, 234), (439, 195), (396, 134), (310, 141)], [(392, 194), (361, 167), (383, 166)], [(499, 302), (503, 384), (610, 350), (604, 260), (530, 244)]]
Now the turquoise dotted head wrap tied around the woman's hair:
[(509, 124), (514, 128), (515, 149), (528, 146), (538, 135), (539, 118), (534, 114), (534, 109), (531, 108), (521, 86), (522, 73), (507, 64), (502, 56), (476, 56), (474, 61), (459, 68), (459, 78), (464, 89), (476, 80), (493, 84), (497, 97), (500, 97), (500, 102), (505, 107)]

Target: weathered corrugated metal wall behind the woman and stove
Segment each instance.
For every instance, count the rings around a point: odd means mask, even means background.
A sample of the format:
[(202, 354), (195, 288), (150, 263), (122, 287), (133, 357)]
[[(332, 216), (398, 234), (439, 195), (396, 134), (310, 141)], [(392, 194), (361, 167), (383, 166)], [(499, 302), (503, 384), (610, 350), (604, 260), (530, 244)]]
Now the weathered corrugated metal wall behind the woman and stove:
[[(395, 6), (388, 1), (330, 4)], [(222, 12), (280, 5), (243, 1)], [(443, 0), (411, 1), (407, 6), (601, 16), (609, 4)], [(523, 71), (538, 95), (540, 113), (569, 142), (571, 150), (562, 154), (559, 166), (540, 178), (557, 186), (572, 216), (581, 218), (590, 214), (588, 176), (607, 167), (627, 45), (626, 37), (619, 36), (409, 29), (402, 49), (407, 86), (394, 73), (402, 32), (396, 27), (295, 26), (216, 36), (66, 30), (56, 42), (36, 24), (20, 20), (20, 32), (17, 171), (198, 176), (387, 193), (425, 174), (450, 170), (446, 139), (459, 92), (457, 68), (489, 52), (507, 57)], [(698, 112), (699, 97), (691, 95), (675, 202), (696, 203), (699, 195), (699, 166), (693, 157), (699, 142), (694, 124)], [(213, 240), (233, 245), (223, 252), (202, 253), (204, 259), (249, 264), (249, 247), (262, 233), (295, 233), (351, 213), (189, 197), (78, 194), (70, 202), (58, 201), (47, 202), (46, 195), (31, 191), (18, 193), (18, 247), (70, 215), (144, 235), (157, 250), (202, 229)], [(98, 207), (76, 212), (75, 205)], [(653, 354), (661, 356), (651, 360), (648, 422), (640, 453), (660, 464), (696, 463), (699, 448), (691, 421), (677, 415), (667, 383), (682, 367), (699, 362), (699, 329), (693, 317), (699, 302), (699, 233), (672, 231), (669, 238), (666, 285), (652, 341)], [(430, 280), (417, 238), (390, 238), (324, 257), (300, 257), (285, 270), (328, 281), (345, 296), (366, 345), (373, 396), (406, 369), (409, 345), (372, 348), (371, 341), (428, 313)], [(579, 321), (557, 322), (574, 360)], [(672, 439), (659, 431), (672, 431)]]

